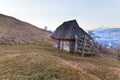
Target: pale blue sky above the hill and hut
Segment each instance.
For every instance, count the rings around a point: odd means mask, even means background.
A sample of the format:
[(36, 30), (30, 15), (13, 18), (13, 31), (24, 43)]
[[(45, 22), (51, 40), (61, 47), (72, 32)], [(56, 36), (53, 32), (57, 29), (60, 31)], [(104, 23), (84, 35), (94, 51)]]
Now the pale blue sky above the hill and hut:
[(120, 0), (0, 0), (0, 13), (49, 30), (73, 19), (85, 30), (120, 27)]

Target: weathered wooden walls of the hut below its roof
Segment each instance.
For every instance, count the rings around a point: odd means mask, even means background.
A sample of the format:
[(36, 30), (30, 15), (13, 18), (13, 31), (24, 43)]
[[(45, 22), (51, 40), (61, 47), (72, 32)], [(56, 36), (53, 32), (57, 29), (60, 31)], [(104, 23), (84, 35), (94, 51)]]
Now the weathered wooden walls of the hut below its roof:
[(94, 54), (93, 43), (88, 38), (77, 39), (77, 49), (76, 40), (54, 40), (54, 47), (61, 50), (70, 51), (72, 53), (79, 53), (82, 56), (85, 54)]

